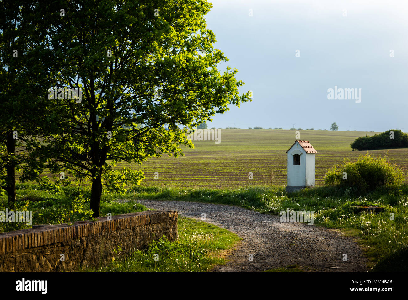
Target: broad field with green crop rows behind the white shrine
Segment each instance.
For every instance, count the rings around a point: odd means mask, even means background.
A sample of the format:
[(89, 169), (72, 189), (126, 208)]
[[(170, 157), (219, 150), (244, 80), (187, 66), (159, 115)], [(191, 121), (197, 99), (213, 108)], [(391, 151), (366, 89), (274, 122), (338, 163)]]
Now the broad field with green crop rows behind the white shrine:
[[(194, 149), (184, 148), (185, 156), (151, 158), (142, 165), (146, 178), (142, 186), (180, 188), (237, 188), (248, 186), (285, 186), (286, 150), (296, 140), (297, 130), (221, 129), (221, 143), (193, 141)], [(365, 131), (299, 130), (300, 140), (308, 140), (317, 150), (316, 185), (324, 174), (344, 158), (355, 159), (367, 151), (352, 151), (350, 143)], [(368, 151), (375, 156), (388, 153), (388, 160), (398, 164), (408, 176), (408, 149)], [(118, 163), (118, 167), (129, 166)], [(155, 172), (159, 179), (154, 179)], [(248, 180), (248, 172), (253, 180)]]

